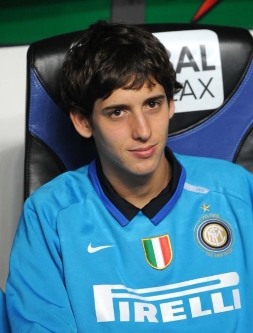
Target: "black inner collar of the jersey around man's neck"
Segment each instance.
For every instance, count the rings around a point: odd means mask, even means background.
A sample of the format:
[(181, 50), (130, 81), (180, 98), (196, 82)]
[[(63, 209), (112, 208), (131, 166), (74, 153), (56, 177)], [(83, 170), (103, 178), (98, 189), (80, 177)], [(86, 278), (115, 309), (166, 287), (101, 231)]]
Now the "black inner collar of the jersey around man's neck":
[[(182, 173), (182, 166), (172, 153), (170, 149), (165, 148), (165, 157), (172, 168), (172, 179), (167, 186), (149, 203), (147, 203), (142, 209), (142, 213), (150, 220), (154, 218), (162, 207), (172, 198), (174, 195), (179, 179)], [(125, 216), (125, 218), (131, 221), (140, 211), (138, 207), (132, 203), (121, 198), (113, 189), (107, 178), (105, 177), (100, 160), (96, 160), (97, 176), (102, 187), (104, 194), (113, 203), (113, 205)]]

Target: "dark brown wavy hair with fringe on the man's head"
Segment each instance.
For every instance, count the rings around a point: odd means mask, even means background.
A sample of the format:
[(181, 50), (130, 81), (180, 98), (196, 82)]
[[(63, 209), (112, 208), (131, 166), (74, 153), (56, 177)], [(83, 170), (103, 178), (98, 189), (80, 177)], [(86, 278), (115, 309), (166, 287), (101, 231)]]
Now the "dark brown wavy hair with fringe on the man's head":
[(94, 103), (115, 89), (163, 86), (168, 101), (182, 88), (160, 41), (144, 28), (98, 21), (74, 41), (62, 67), (66, 111), (91, 118)]

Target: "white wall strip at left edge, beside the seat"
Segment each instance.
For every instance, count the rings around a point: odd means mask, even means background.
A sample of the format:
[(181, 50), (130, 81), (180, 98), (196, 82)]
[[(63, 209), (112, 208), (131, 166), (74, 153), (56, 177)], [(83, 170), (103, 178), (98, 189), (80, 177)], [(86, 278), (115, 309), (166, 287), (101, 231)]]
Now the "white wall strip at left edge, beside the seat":
[(0, 287), (23, 204), (26, 52), (0, 48)]

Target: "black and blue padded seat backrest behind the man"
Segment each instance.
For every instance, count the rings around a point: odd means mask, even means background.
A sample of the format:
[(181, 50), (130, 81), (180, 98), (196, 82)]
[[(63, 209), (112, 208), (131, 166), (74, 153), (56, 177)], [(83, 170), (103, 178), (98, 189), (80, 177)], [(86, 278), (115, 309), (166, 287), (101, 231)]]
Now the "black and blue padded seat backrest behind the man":
[[(168, 145), (182, 154), (227, 159), (253, 172), (252, 36), (241, 28), (151, 24), (184, 85), (175, 98)], [(60, 70), (81, 32), (33, 43), (28, 51), (25, 197), (96, 149), (60, 109)]]

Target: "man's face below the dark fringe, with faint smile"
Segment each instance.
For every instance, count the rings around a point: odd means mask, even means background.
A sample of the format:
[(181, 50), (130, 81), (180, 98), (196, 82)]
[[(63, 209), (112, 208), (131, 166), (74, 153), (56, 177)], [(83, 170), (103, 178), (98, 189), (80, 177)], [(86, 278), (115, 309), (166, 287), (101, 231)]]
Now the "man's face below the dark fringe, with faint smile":
[[(91, 134), (105, 175), (142, 176), (154, 173), (165, 159), (168, 122), (174, 113), (164, 89), (117, 89), (95, 102)], [(163, 160), (164, 164), (164, 160)]]

